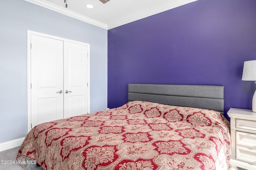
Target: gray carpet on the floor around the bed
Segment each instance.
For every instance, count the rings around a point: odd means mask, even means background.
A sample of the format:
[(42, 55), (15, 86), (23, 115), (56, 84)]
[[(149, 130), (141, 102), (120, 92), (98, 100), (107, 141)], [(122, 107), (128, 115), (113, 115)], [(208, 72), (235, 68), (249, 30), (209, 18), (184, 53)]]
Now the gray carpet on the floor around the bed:
[[(16, 156), (20, 147), (16, 147), (9, 150), (0, 152), (0, 160), (14, 161), (14, 164), (1, 164), (0, 170), (43, 170), (43, 168), (36, 166), (35, 164), (28, 164), (26, 168), (22, 168), (19, 164), (16, 164)], [(238, 168), (238, 170), (246, 170)]]

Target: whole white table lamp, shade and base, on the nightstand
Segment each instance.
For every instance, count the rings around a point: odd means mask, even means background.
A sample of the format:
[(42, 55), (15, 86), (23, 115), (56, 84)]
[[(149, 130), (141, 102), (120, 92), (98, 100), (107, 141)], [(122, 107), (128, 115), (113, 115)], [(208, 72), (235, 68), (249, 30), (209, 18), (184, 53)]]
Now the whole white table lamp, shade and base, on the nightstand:
[[(255, 81), (256, 83), (256, 60), (244, 62), (242, 80)], [(256, 112), (256, 91), (252, 97), (252, 111)]]

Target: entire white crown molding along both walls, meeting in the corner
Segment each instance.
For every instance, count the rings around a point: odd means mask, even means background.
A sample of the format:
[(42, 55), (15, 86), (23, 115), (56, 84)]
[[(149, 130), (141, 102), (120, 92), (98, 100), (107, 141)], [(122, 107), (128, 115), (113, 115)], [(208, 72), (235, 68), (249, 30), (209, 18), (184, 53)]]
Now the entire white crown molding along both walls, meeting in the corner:
[(130, 23), (130, 22), (133, 22), (133, 21), (136, 21), (136, 20), (140, 20), (142, 18), (146, 18), (148, 16), (152, 16), (154, 14), (158, 14), (160, 12), (164, 12), (164, 11), (167, 11), (167, 10), (170, 10), (170, 9), (173, 9), (173, 8), (176, 8), (176, 7), (179, 7), (179, 6), (182, 6), (182, 5), (188, 4), (190, 2), (197, 1), (197, 0), (170, 0), (170, 2), (168, 2), (166, 4), (156, 6), (154, 8), (149, 9), (149, 10), (145, 10), (145, 11), (140, 12), (138, 14), (134, 14), (132, 16), (123, 18), (122, 20), (110, 23), (108, 25), (105, 24), (105, 23), (93, 20), (92, 18), (88, 18), (86, 16), (78, 14), (76, 12), (72, 12), (68, 9), (62, 8), (60, 6), (52, 4), (52, 3), (48, 2), (48, 1), (45, 1), (45, 0), (25, 0), (25, 1), (31, 2), (31, 3), (39, 5), (39, 6), (42, 6), (44, 8), (48, 8), (48, 9), (56, 11), (56, 12), (59, 12), (59, 13), (64, 14), (66, 16), (70, 16), (72, 18), (76, 18), (78, 20), (90, 23), (92, 25), (96, 25), (96, 26), (104, 28), (104, 29), (112, 29), (112, 28), (124, 25), (126, 23)]

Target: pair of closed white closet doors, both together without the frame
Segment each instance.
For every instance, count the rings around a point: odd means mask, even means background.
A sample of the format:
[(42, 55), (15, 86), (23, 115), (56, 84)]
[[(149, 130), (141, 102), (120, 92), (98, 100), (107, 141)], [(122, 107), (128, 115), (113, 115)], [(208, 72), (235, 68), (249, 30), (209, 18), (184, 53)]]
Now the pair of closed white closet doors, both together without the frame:
[(31, 35), (31, 128), (88, 113), (89, 46)]

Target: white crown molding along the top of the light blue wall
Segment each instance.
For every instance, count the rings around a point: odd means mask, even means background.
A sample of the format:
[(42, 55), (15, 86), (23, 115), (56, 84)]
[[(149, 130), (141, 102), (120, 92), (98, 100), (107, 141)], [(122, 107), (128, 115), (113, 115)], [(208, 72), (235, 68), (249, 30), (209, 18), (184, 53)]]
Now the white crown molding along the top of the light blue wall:
[(78, 20), (90, 23), (92, 25), (96, 25), (98, 27), (108, 29), (108, 25), (106, 25), (105, 23), (93, 20), (92, 18), (88, 18), (88, 17), (83, 16), (81, 14), (78, 14), (76, 12), (73, 12), (73, 11), (70, 11), (68, 9), (62, 8), (60, 6), (57, 6), (55, 4), (50, 3), (48, 1), (45, 1), (45, 0), (25, 0), (25, 1), (31, 2), (31, 3), (39, 5), (39, 6), (42, 6), (44, 8), (48, 8), (48, 9), (56, 11), (56, 12), (59, 12), (60, 14), (64, 14), (66, 16), (70, 16), (72, 18), (76, 18)]

